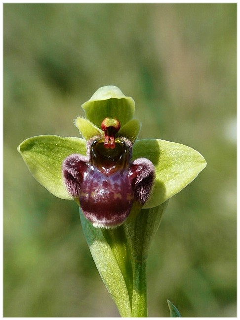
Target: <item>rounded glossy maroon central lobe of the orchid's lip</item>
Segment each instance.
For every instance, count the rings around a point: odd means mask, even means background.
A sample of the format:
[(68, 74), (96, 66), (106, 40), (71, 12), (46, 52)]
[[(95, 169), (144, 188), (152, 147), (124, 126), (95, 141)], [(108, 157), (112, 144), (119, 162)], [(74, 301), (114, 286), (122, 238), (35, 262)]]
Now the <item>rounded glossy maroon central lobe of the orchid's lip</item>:
[(80, 206), (86, 218), (96, 226), (121, 224), (133, 200), (132, 181), (125, 169), (106, 176), (93, 168), (82, 182)]

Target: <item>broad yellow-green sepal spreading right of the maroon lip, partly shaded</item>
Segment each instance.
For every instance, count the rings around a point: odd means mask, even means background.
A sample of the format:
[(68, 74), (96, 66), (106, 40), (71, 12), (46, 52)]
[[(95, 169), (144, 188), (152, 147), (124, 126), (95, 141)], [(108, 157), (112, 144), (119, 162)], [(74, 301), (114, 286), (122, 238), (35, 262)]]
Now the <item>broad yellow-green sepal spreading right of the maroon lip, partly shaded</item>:
[(160, 205), (185, 188), (206, 166), (200, 153), (188, 146), (158, 139), (138, 140), (133, 145), (133, 159), (147, 158), (156, 170), (150, 199), (143, 208)]

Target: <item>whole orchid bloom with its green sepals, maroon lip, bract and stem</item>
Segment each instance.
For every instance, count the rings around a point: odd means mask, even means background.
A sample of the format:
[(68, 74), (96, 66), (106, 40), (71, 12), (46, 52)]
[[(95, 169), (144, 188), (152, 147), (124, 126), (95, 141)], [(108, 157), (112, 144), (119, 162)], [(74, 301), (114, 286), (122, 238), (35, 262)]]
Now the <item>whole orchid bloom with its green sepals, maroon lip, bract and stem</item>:
[[(137, 140), (135, 103), (118, 87), (98, 89), (75, 125), (82, 138), (41, 135), (18, 146), (32, 175), (80, 206), (83, 232), (123, 317), (146, 317), (146, 259), (167, 200), (205, 167), (196, 150)], [(113, 272), (114, 270), (114, 272)]]

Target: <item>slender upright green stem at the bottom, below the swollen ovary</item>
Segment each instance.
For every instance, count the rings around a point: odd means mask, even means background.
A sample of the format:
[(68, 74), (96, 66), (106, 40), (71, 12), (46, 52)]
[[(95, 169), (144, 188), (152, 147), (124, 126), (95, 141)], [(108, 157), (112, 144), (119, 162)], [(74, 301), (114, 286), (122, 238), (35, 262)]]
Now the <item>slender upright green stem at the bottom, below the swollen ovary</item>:
[(146, 263), (146, 260), (134, 263), (131, 317), (148, 316)]

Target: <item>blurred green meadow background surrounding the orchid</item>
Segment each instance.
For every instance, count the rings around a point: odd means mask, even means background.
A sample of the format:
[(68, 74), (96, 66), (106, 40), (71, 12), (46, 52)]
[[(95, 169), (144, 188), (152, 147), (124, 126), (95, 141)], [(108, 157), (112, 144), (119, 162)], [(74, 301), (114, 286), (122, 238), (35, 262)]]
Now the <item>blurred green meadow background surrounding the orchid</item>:
[(118, 317), (73, 201), (29, 173), (17, 146), (79, 136), (101, 86), (136, 102), (139, 138), (207, 166), (169, 202), (148, 259), (150, 317), (236, 317), (237, 4), (3, 4), (4, 317)]

